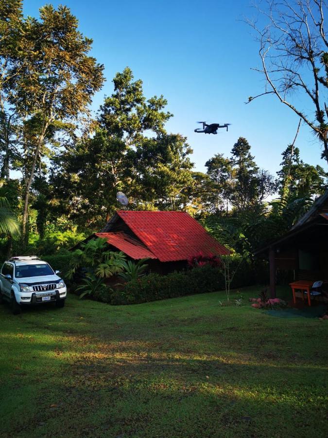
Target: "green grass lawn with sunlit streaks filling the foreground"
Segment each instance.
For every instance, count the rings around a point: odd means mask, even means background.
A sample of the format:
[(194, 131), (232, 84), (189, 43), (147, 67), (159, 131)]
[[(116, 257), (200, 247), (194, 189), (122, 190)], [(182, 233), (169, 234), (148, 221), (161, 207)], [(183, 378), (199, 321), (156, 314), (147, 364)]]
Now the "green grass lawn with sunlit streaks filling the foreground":
[(327, 437), (328, 322), (252, 309), (259, 290), (1, 306), (0, 437)]

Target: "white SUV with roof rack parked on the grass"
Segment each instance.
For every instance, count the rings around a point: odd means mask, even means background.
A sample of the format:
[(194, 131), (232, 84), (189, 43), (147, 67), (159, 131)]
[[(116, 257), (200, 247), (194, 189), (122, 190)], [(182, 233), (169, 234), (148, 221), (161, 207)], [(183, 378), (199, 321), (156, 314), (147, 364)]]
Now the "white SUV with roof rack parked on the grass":
[(14, 314), (21, 304), (54, 302), (64, 307), (66, 285), (47, 262), (36, 256), (19, 256), (6, 260), (0, 274), (0, 302), (11, 303)]

